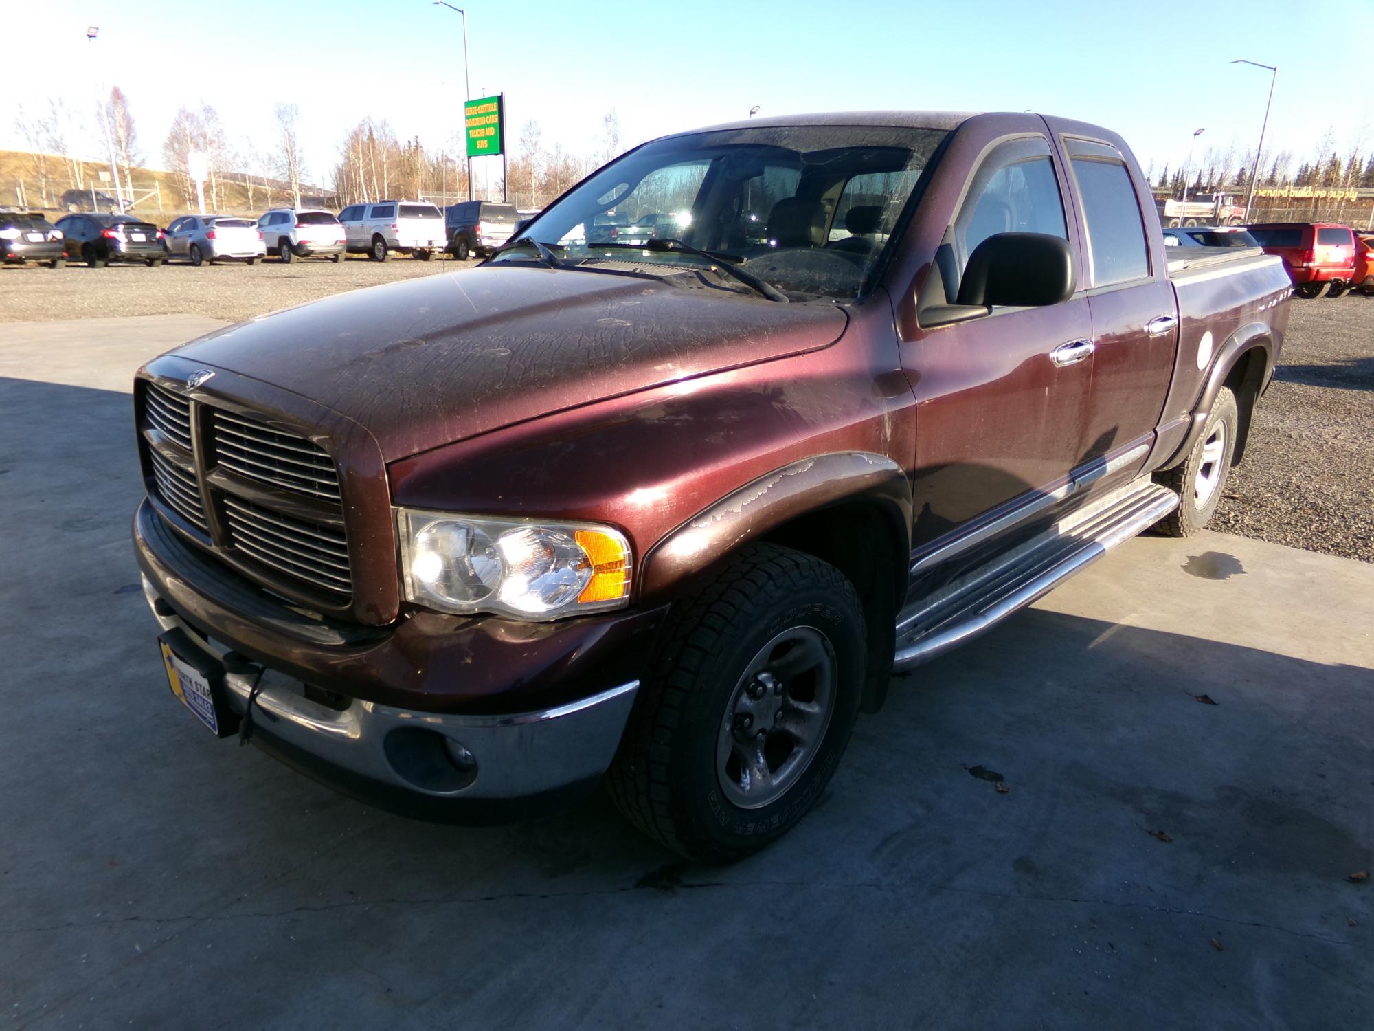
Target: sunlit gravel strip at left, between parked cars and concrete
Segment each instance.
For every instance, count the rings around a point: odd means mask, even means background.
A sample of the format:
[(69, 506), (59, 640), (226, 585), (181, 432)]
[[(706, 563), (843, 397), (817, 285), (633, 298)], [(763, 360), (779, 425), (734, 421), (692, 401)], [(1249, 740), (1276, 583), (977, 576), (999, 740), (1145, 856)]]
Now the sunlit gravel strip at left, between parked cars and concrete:
[(430, 261), (403, 256), (370, 261), (363, 254), (349, 254), (341, 265), (326, 258), (297, 258), (290, 265), (267, 258), (257, 265), (227, 261), (199, 268), (185, 261), (162, 268), (8, 267), (0, 268), (0, 322), (124, 315), (205, 315), (242, 322), (345, 290), (459, 268), (464, 264), (448, 254)]

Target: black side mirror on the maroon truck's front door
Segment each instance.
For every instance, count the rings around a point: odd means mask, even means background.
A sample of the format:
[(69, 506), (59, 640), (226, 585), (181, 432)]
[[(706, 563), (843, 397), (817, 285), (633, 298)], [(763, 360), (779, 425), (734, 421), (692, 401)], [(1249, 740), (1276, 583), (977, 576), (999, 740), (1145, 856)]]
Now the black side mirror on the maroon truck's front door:
[(1073, 250), (1061, 236), (998, 232), (974, 247), (955, 304), (921, 312), (923, 327), (988, 315), (993, 308), (1044, 308), (1073, 297)]

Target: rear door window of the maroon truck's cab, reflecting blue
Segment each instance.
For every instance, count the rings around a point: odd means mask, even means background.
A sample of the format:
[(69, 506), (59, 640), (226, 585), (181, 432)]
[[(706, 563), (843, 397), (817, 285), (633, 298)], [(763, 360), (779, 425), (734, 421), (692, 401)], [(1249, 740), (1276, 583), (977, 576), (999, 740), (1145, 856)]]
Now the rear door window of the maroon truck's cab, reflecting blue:
[(1125, 158), (1105, 143), (1069, 137), (1065, 144), (1079, 184), (1092, 286), (1147, 279), (1150, 252)]

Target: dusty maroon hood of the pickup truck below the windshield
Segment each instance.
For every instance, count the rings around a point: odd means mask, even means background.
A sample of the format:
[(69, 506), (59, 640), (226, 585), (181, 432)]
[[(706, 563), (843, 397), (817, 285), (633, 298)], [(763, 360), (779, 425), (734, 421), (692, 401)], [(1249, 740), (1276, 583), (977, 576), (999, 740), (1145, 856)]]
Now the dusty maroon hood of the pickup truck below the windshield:
[(364, 426), (386, 462), (580, 404), (833, 344), (830, 304), (525, 265), (429, 275), (212, 333), (181, 357)]

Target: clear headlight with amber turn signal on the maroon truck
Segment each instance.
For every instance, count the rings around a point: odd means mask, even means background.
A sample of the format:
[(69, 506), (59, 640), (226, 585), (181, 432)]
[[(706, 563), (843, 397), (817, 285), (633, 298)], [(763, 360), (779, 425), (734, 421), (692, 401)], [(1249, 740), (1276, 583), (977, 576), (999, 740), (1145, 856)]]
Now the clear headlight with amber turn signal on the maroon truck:
[(418, 605), (554, 620), (629, 601), (629, 542), (610, 526), (397, 509), (396, 528)]

